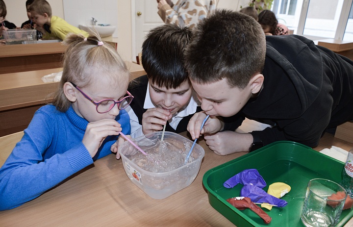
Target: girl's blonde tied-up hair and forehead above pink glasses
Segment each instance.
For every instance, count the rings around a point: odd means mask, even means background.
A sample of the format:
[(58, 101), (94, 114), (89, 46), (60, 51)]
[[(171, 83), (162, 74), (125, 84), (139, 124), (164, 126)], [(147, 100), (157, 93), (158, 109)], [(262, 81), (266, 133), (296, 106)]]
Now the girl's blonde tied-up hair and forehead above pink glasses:
[[(63, 41), (68, 48), (63, 59), (63, 73), (59, 88), (54, 94), (52, 104), (65, 112), (71, 105), (64, 94), (64, 83), (73, 82), (78, 87), (85, 87), (101, 79), (111, 80), (112, 86), (128, 84), (130, 73), (118, 52), (108, 43), (102, 42), (96, 32), (85, 38), (81, 34), (69, 34)], [(100, 72), (100, 75), (92, 75)]]

